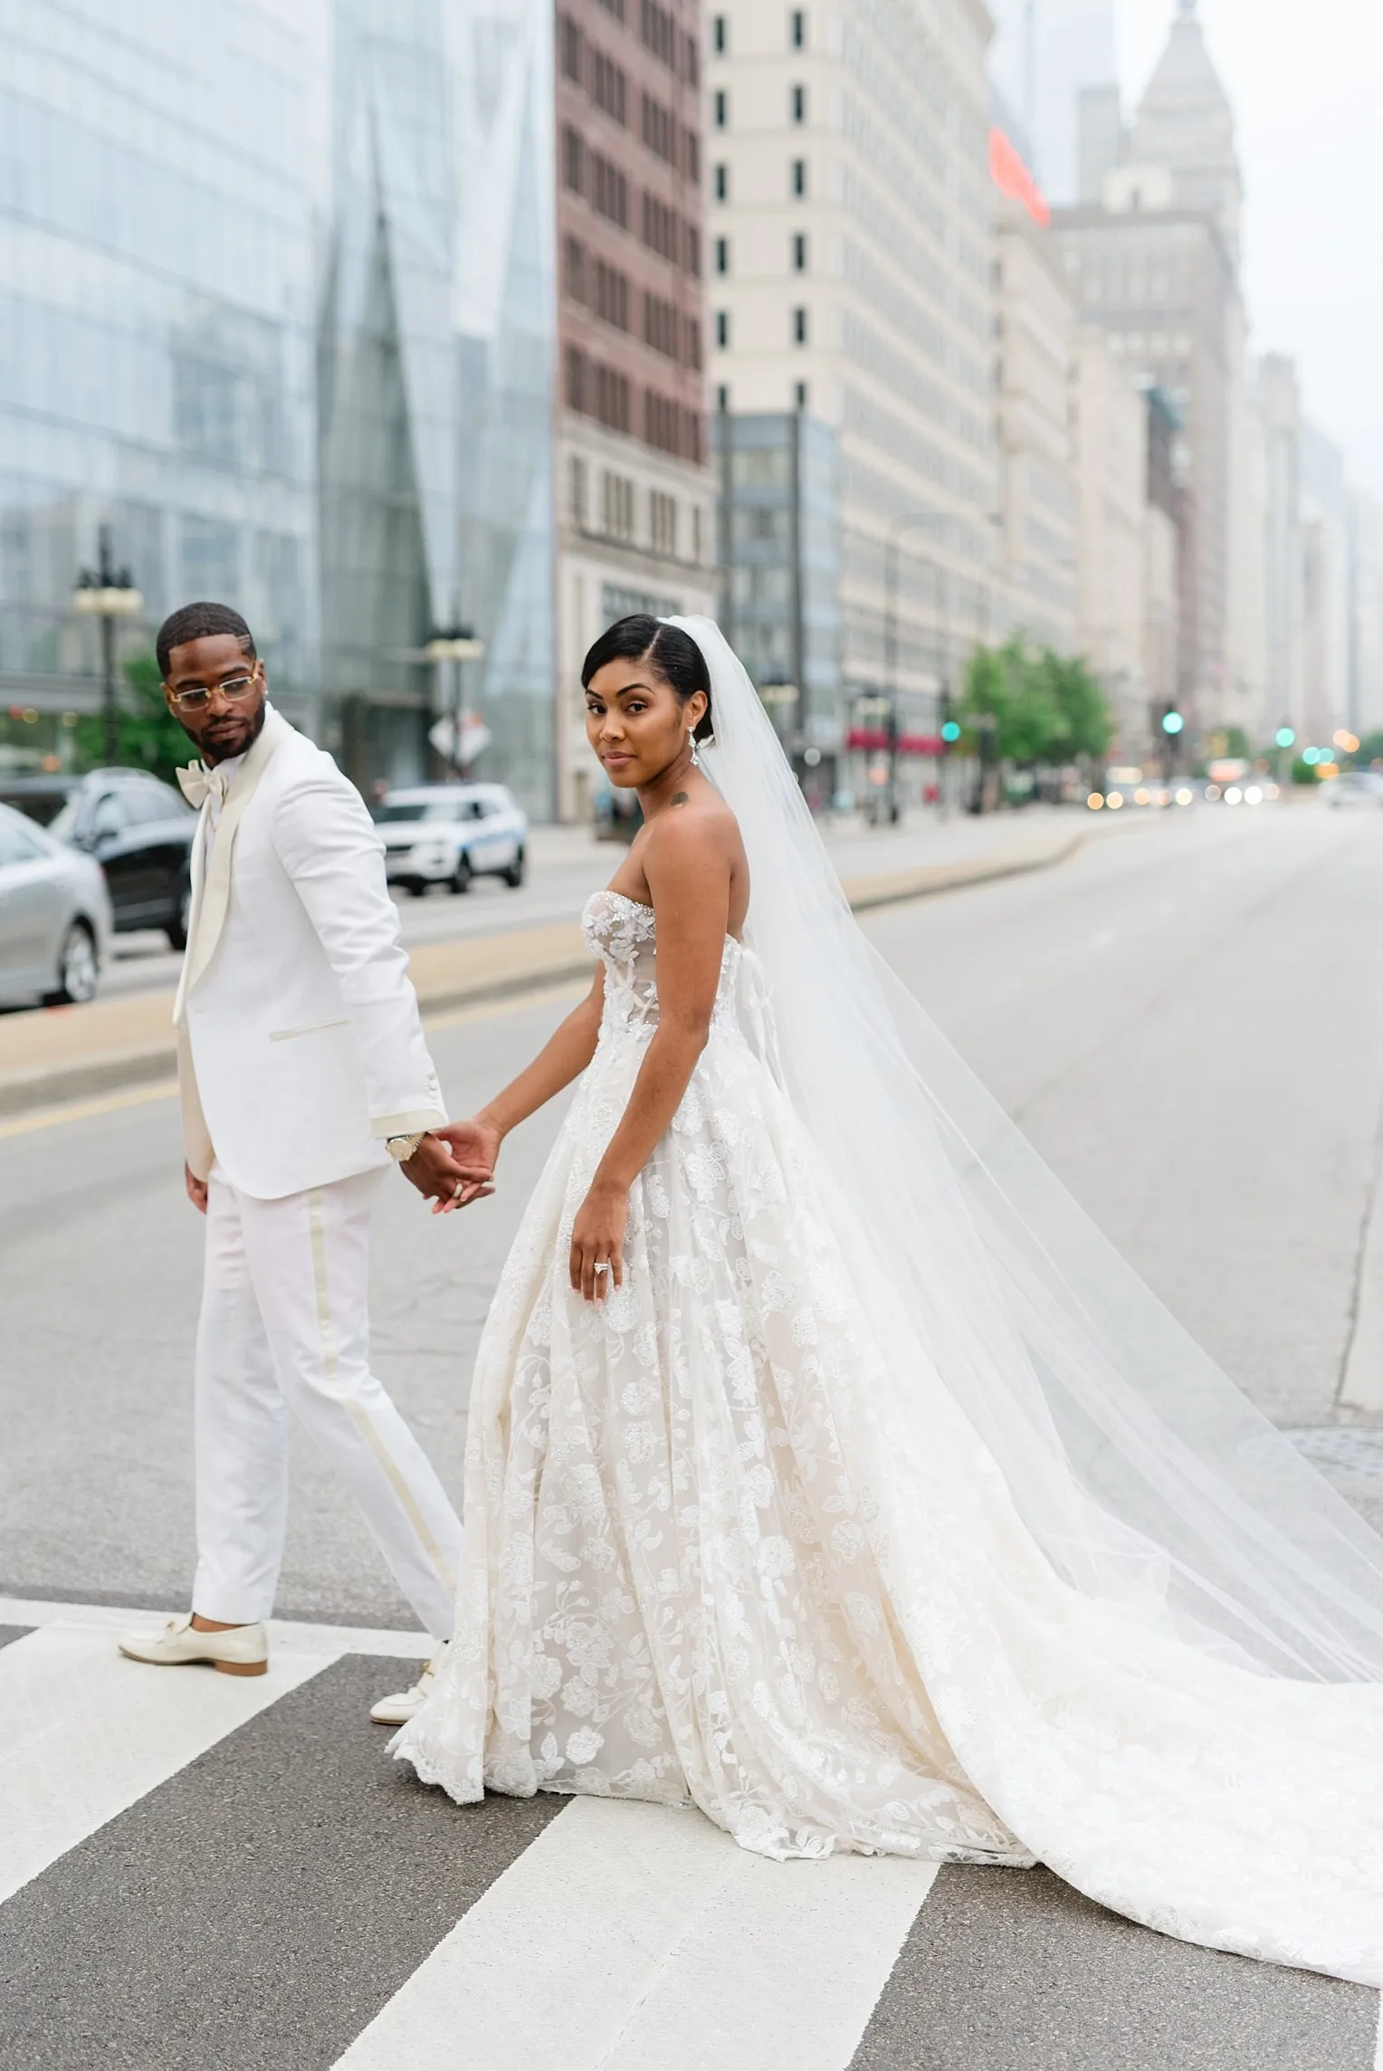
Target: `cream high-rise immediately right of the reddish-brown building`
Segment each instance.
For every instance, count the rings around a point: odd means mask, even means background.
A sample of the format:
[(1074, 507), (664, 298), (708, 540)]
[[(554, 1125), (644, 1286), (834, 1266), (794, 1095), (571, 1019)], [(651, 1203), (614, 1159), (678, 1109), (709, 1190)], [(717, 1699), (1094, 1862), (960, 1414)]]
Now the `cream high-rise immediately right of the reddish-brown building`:
[(710, 17), (712, 398), (836, 435), (843, 692), (810, 714), (818, 754), (863, 694), (930, 727), (994, 617), (988, 35), (981, 0)]

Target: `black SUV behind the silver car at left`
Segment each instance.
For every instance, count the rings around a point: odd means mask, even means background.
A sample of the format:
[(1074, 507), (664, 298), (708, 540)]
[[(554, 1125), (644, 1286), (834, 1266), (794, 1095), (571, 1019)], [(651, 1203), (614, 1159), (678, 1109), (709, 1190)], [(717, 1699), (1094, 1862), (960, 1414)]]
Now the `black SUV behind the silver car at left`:
[(180, 791), (145, 770), (91, 770), (4, 777), (0, 799), (58, 841), (95, 855), (110, 886), (116, 934), (161, 928), (174, 949), (186, 949), (197, 814)]

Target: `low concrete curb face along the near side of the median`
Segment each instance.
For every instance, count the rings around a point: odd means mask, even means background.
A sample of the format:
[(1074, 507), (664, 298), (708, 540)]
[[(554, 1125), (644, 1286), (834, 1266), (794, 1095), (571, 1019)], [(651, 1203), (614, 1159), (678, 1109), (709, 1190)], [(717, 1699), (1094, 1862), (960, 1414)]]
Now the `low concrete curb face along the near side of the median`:
[[(998, 878), (1021, 878), (1033, 870), (1054, 870), (1085, 847), (1087, 835), (1070, 835), (1058, 847), (1031, 855), (977, 855), (961, 864), (928, 864), (919, 870), (899, 870), (878, 878), (853, 878), (845, 895), (855, 913), (905, 905), (911, 899), (932, 899), (940, 893), (965, 891), (971, 884), (992, 884)], [(480, 938), (487, 940), (487, 938)], [(431, 946), (431, 944), (429, 944)], [(576, 984), (590, 973), (590, 957), (557, 955), (540, 965), (528, 965), (505, 975), (466, 980), (418, 988), (422, 1021), (480, 1007), (487, 1000), (522, 1000), (549, 986)], [(39, 1009), (41, 1013), (43, 1009)], [(83, 1009), (75, 1009), (83, 1013)], [(89, 1100), (124, 1087), (157, 1085), (176, 1077), (174, 1044), (155, 1042), (108, 1050), (64, 1064), (39, 1064), (25, 1071), (0, 1071), (0, 1118), (25, 1114), (31, 1108), (56, 1108), (68, 1100)]]

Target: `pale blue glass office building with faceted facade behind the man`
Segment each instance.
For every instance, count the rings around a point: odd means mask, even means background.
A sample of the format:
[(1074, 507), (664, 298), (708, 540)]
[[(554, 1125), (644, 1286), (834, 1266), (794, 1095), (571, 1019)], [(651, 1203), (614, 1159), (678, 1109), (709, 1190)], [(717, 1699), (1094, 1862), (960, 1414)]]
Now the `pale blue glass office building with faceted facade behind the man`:
[(0, 750), (97, 698), (97, 526), (244, 611), (358, 783), (553, 781), (551, 21), (538, 0), (27, 0), (0, 17)]

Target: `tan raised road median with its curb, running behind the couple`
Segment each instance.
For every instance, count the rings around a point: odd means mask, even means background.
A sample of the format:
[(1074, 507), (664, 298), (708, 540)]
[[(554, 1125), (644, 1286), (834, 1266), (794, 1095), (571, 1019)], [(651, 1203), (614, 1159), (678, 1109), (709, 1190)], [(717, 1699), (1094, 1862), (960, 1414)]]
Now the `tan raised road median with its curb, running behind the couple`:
[[(832, 862), (857, 913), (903, 899), (983, 884), (1064, 862), (1104, 833), (1079, 808), (919, 828), (832, 828)], [(542, 830), (569, 847), (569, 828)], [(609, 876), (621, 859), (609, 847)], [(576, 917), (549, 926), (414, 942), (410, 969), (426, 1013), (534, 992), (584, 978), (590, 955)], [(172, 990), (118, 994), (89, 1007), (48, 1007), (0, 1019), (0, 1114), (147, 1085), (174, 1073)]]

